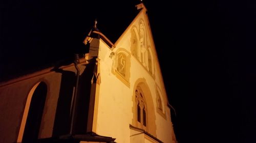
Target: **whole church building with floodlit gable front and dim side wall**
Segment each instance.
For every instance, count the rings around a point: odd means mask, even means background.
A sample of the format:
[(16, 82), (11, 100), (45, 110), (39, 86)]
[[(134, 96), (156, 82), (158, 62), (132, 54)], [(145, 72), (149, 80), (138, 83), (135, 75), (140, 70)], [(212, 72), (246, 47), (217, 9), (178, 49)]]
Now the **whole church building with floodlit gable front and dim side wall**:
[(177, 142), (143, 4), (113, 44), (95, 26), (89, 52), (0, 84), (0, 142)]

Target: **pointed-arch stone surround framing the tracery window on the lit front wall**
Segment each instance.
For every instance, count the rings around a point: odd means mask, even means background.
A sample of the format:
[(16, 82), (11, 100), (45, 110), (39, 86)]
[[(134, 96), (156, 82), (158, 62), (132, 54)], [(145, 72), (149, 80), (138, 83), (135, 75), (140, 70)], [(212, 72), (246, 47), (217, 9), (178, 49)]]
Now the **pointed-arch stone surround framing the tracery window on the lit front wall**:
[(134, 88), (133, 88), (133, 107), (132, 107), (132, 111), (133, 111), (133, 119), (132, 119), (132, 125), (138, 128), (141, 128), (140, 125), (138, 125), (138, 117), (137, 117), (137, 102), (136, 102), (136, 89), (138, 89), (138, 87), (142, 90), (143, 92), (143, 98), (146, 104), (146, 123), (147, 123), (147, 127), (146, 127), (146, 131), (154, 136), (156, 135), (156, 115), (155, 115), (155, 110), (156, 108), (154, 107), (154, 103), (153, 103), (153, 98), (152, 98), (152, 94), (150, 91), (150, 88), (148, 87), (145, 78), (139, 78), (135, 84), (134, 84)]

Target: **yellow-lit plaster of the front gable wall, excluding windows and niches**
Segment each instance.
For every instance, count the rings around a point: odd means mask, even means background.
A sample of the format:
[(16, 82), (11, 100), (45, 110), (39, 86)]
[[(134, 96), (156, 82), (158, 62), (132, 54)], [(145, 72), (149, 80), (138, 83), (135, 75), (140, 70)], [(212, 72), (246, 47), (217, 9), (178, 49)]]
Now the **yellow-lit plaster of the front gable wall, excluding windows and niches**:
[[(116, 48), (113, 49), (115, 52), (118, 48), (124, 48), (131, 53), (131, 30), (130, 27), (133, 25), (139, 29), (139, 20), (143, 19), (147, 30), (147, 45), (150, 45), (154, 55), (155, 65), (155, 77), (152, 76), (146, 68), (132, 55), (131, 56), (131, 67), (130, 67), (130, 87), (127, 87), (122, 81), (120, 81), (113, 73), (113, 60), (115, 57), (110, 58), (112, 50), (101, 40), (100, 51), (99, 51), (99, 70), (101, 83), (99, 86), (99, 104), (98, 104), (98, 115), (97, 115), (97, 127), (96, 133), (104, 136), (111, 136), (116, 138), (116, 142), (130, 142), (130, 128), (132, 124), (133, 113), (132, 113), (132, 96), (134, 92), (134, 84), (139, 78), (146, 79), (146, 84), (150, 88), (152, 94), (153, 103), (155, 107), (156, 115), (156, 134), (157, 138), (163, 142), (172, 142), (172, 122), (170, 122), (170, 112), (167, 107), (167, 101), (165, 105), (165, 116), (164, 119), (156, 110), (156, 85), (161, 90), (163, 96), (166, 96), (162, 76), (157, 63), (157, 55), (155, 52), (155, 46), (152, 41), (150, 27), (148, 27), (147, 19), (143, 12), (141, 12), (132, 25), (130, 25), (121, 38), (117, 41)], [(164, 47), (161, 47), (164, 48)]]

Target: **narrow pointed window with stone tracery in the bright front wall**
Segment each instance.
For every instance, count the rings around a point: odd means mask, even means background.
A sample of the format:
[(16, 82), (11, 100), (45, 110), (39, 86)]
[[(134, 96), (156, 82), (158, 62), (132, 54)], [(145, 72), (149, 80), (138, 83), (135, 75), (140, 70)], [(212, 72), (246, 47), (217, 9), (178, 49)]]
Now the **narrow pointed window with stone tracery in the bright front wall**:
[(144, 94), (140, 87), (136, 88), (135, 101), (137, 104), (137, 127), (146, 130), (147, 127), (147, 108)]

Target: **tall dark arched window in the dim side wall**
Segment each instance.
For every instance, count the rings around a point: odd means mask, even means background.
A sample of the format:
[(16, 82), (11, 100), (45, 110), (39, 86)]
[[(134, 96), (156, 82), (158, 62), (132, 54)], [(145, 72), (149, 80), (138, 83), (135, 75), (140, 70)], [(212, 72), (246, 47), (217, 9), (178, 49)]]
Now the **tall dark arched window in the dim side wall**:
[(17, 142), (34, 142), (38, 138), (47, 91), (47, 84), (42, 81), (37, 82), (30, 90), (22, 123), (19, 128)]

